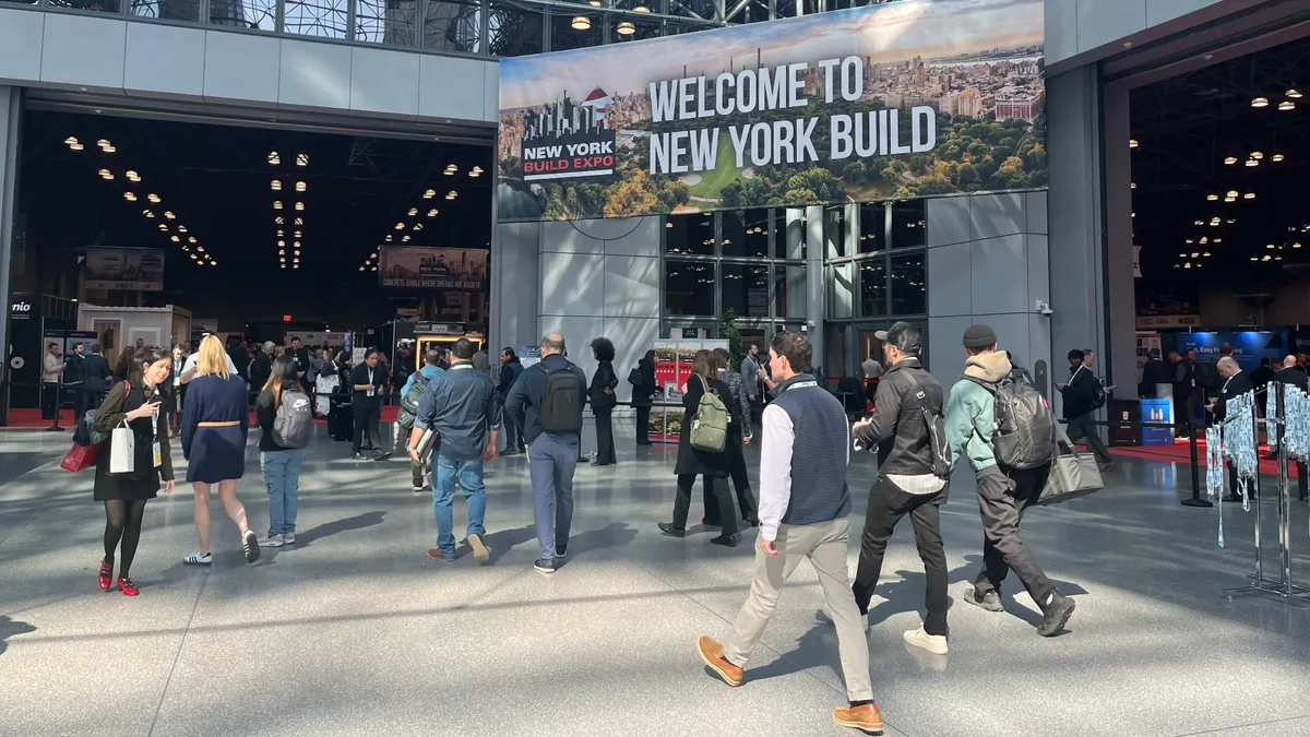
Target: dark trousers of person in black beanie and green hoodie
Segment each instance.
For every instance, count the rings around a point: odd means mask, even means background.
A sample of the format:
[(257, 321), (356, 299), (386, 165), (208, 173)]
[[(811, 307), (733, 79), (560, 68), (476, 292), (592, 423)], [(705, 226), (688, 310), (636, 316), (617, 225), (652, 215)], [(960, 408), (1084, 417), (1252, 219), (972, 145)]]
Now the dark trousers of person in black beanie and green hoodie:
[(977, 475), (979, 511), (982, 515), (982, 570), (973, 580), (981, 597), (1001, 591), (1001, 582), (1014, 570), (1032, 601), (1044, 607), (1056, 586), (1041, 572), (1032, 551), (1019, 538), (1023, 513), (1041, 497), (1051, 466), (1024, 471), (988, 468)]

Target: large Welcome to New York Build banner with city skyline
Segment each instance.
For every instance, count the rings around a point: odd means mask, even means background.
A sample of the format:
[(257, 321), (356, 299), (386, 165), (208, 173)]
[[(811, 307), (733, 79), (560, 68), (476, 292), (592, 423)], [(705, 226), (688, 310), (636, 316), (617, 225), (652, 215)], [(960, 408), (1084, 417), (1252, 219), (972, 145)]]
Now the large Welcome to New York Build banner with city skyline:
[(1044, 186), (1043, 0), (901, 0), (500, 62), (498, 219)]

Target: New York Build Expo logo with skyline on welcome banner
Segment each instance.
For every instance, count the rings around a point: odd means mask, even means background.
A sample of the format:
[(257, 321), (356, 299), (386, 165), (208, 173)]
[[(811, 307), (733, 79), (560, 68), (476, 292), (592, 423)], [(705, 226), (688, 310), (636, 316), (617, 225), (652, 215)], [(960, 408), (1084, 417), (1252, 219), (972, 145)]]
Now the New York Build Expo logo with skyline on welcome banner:
[(566, 92), (559, 100), (528, 110), (523, 126), (523, 180), (609, 177), (614, 173), (614, 129), (608, 110), (613, 98), (596, 88), (582, 102)]

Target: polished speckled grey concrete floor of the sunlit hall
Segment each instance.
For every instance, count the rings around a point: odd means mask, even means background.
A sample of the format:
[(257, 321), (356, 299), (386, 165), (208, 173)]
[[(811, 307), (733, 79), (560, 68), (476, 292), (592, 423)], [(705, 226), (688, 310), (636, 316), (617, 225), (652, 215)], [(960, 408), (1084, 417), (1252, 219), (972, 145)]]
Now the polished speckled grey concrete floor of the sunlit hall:
[[(431, 502), (410, 492), (407, 466), (352, 462), (318, 438), (295, 549), (248, 565), (223, 521), (214, 567), (183, 568), (195, 534), (179, 487), (147, 508), (141, 594), (130, 599), (96, 586), (103, 517), (90, 473), (58, 468), (68, 442), (0, 433), (0, 736), (848, 733), (828, 716), (844, 690), (807, 564), (743, 687), (702, 666), (693, 644), (728, 629), (755, 532), (736, 549), (707, 544), (709, 534), (658, 534), (672, 506), (672, 448), (621, 441), (617, 467), (579, 468), (570, 560), (545, 578), (531, 567), (524, 458), (489, 471), (491, 564), (439, 564), (424, 556)], [(262, 531), (255, 458), (252, 447), (241, 497)], [(857, 458), (858, 511), (872, 476), (871, 456)], [(959, 603), (981, 540), (960, 479), (943, 510), (951, 653), (907, 649), (924, 576), (903, 525), (869, 636), (887, 734), (1310, 734), (1310, 610), (1224, 597), (1252, 568), (1252, 515), (1224, 505), (1221, 549), (1217, 510), (1178, 504), (1186, 468), (1125, 460), (1107, 479), (1104, 492), (1024, 521), (1047, 572), (1078, 599), (1053, 639), (1035, 633), (1036, 608), (1017, 582), (1005, 614)], [(1303, 553), (1306, 510), (1294, 506)], [(462, 517), (457, 501), (457, 526)], [(852, 515), (857, 530), (862, 521)], [(857, 546), (858, 535), (852, 565)], [(1310, 581), (1305, 555), (1293, 565)]]

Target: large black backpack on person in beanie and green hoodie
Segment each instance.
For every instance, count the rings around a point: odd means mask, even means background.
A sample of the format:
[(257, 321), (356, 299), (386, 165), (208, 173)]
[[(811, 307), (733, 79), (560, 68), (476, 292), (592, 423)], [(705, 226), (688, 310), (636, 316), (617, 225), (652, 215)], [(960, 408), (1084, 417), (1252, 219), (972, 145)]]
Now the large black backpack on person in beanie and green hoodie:
[(997, 463), (1022, 471), (1055, 460), (1056, 416), (1027, 375), (1013, 372), (1000, 386), (968, 375), (964, 378), (996, 397), (992, 452)]

